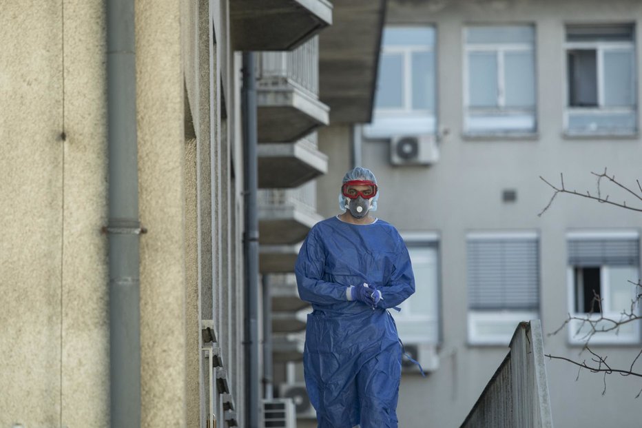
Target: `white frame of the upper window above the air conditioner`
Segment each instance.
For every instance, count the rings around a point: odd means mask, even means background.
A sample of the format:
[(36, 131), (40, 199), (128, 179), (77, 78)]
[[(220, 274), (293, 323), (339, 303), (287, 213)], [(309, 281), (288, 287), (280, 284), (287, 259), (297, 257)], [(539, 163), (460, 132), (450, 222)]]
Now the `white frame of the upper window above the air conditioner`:
[[(363, 132), (367, 138), (390, 138), (397, 136), (399, 131), (393, 130), (391, 121), (403, 121), (408, 128), (412, 128), (415, 123), (425, 122), (427, 127), (423, 125), (422, 134), (436, 134), (437, 133), (437, 28), (434, 25), (417, 25), (417, 26), (386, 26), (386, 29), (394, 28), (431, 28), (435, 33), (435, 43), (433, 45), (417, 44), (417, 45), (382, 45), (381, 54), (401, 54), (403, 57), (403, 76), (404, 88), (402, 92), (402, 107), (401, 108), (377, 108), (374, 105), (373, 119), (369, 125), (364, 125)], [(412, 57), (414, 53), (420, 52), (433, 52), (435, 70), (435, 99), (433, 100), (434, 108), (431, 109), (415, 109), (413, 108), (413, 85), (412, 85)], [(375, 94), (376, 96), (376, 94)], [(376, 102), (376, 100), (375, 100)], [(423, 129), (427, 128), (427, 129)]]

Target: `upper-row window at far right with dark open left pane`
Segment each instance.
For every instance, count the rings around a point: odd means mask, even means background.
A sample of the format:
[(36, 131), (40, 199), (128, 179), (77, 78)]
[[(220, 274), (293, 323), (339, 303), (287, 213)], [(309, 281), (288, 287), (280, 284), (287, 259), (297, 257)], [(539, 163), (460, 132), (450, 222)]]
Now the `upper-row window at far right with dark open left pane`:
[(634, 28), (566, 28), (566, 132), (634, 134), (636, 66)]

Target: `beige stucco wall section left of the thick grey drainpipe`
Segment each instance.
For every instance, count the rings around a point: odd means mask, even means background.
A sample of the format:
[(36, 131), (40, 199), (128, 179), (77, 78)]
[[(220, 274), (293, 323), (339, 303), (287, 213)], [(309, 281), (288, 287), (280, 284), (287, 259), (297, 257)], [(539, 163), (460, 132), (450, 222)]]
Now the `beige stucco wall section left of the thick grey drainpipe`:
[(0, 426), (107, 426), (103, 5), (0, 16)]

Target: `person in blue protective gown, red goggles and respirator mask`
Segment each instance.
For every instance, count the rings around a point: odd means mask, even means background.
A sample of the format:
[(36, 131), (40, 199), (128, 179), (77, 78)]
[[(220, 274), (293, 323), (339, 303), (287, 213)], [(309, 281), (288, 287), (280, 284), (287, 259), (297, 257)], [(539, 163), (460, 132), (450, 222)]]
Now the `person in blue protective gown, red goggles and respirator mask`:
[(320, 428), (397, 427), (402, 345), (387, 309), (415, 279), (399, 232), (370, 215), (378, 196), (370, 170), (347, 172), (345, 212), (317, 223), (296, 261), (300, 298), (313, 307), (303, 364)]

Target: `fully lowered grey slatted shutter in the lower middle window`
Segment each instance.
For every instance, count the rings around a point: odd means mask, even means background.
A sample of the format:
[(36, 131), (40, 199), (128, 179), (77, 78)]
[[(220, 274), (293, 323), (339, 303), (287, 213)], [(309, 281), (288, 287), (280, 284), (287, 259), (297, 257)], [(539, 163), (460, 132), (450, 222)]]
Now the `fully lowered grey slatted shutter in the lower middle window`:
[(470, 309), (539, 308), (537, 238), (468, 238)]

